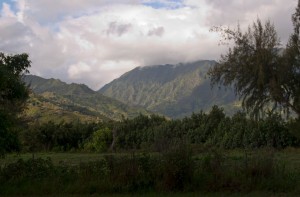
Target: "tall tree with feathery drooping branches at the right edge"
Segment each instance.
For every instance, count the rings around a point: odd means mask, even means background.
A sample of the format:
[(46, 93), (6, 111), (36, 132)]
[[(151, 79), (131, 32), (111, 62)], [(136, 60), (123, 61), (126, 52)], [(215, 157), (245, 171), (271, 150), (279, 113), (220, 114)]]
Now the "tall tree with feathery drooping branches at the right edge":
[(222, 31), (225, 40), (233, 41), (233, 47), (209, 70), (213, 85), (234, 86), (242, 99), (242, 106), (258, 116), (273, 106), (300, 115), (300, 1), (292, 17), (294, 33), (286, 49), (273, 24), (264, 25), (257, 19), (247, 32), (241, 29), (215, 29)]

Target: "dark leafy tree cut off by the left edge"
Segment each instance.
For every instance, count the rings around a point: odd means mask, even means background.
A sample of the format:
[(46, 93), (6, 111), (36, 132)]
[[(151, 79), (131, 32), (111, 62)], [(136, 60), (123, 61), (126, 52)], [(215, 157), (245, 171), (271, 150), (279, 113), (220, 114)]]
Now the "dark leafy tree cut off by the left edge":
[(29, 95), (22, 76), (29, 72), (30, 63), (27, 54), (0, 53), (0, 155), (15, 149), (17, 143), (12, 131)]

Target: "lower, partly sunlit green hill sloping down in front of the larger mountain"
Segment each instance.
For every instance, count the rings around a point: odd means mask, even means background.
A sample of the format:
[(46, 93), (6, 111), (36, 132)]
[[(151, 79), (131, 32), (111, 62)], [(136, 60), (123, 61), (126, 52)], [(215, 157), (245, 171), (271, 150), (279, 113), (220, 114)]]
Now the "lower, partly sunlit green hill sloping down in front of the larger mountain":
[(32, 90), (25, 111), (26, 117), (31, 120), (105, 121), (149, 114), (142, 108), (130, 107), (93, 91), (84, 84), (67, 84), (34, 75), (26, 75), (23, 80)]

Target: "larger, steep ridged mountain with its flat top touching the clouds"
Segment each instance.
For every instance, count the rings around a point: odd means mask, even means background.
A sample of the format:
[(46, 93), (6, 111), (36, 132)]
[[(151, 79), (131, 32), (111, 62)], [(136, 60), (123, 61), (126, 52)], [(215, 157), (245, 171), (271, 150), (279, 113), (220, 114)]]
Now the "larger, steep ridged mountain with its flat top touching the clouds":
[(239, 102), (232, 89), (213, 88), (206, 73), (215, 61), (137, 67), (99, 90), (102, 94), (173, 118), (213, 105), (232, 114)]

